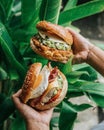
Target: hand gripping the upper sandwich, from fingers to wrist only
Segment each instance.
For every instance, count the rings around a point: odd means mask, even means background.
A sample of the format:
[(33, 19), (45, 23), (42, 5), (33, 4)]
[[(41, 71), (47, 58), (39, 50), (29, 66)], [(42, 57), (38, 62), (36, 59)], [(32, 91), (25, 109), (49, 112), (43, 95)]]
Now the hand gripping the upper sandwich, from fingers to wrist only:
[(89, 50), (93, 47), (93, 45), (86, 38), (75, 32), (71, 28), (67, 29), (72, 34), (74, 40), (72, 46), (74, 53), (73, 64), (86, 62)]

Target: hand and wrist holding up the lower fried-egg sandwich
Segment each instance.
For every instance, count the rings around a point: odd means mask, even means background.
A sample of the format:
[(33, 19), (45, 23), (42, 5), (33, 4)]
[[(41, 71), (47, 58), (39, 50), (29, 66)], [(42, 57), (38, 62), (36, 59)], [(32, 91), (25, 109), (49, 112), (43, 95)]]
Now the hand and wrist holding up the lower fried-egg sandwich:
[(30, 106), (22, 103), (19, 99), (21, 89), (12, 96), (16, 108), (19, 110), (26, 122), (27, 130), (49, 130), (49, 124), (53, 108), (46, 111), (36, 111)]

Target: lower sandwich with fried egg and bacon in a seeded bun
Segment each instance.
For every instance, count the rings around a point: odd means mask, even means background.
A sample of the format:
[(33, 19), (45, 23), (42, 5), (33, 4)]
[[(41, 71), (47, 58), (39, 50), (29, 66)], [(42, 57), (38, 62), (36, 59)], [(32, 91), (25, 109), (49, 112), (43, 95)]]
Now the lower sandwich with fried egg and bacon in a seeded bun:
[(27, 72), (20, 99), (37, 110), (47, 110), (64, 99), (67, 88), (66, 77), (57, 67), (34, 63)]

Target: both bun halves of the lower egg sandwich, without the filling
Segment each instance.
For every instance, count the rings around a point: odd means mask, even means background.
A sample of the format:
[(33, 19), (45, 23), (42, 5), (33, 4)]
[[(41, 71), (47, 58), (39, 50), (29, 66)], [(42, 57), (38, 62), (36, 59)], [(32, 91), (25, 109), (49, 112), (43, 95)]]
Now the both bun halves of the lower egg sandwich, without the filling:
[[(64, 99), (64, 97), (67, 93), (68, 83), (67, 83), (67, 79), (64, 76), (64, 74), (60, 70), (58, 70), (58, 73), (62, 76), (62, 79), (63, 79), (63, 87), (62, 87), (61, 94), (55, 101), (42, 105), (39, 102), (40, 101), (39, 98), (32, 99), (33, 98), (32, 92), (35, 89), (33, 84), (36, 81), (36, 79), (41, 71), (41, 68), (42, 68), (41, 63), (34, 63), (30, 66), (30, 68), (27, 72), (27, 75), (25, 77), (23, 86), (22, 86), (22, 93), (20, 95), (20, 99), (23, 103), (28, 103), (30, 106), (32, 106), (35, 109), (47, 110), (52, 107), (55, 107)], [(37, 99), (38, 99), (38, 102), (37, 102), (37, 104), (34, 105), (34, 100), (37, 100)], [(30, 100), (30, 102), (28, 102), (29, 100)]]

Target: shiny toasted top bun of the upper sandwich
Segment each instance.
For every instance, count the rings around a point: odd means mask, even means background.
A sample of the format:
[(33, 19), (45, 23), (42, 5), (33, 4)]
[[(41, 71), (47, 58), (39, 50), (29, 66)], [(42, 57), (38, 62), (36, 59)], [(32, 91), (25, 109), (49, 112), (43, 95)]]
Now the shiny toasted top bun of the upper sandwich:
[(47, 35), (64, 40), (69, 45), (72, 45), (73, 43), (73, 37), (71, 33), (62, 26), (52, 24), (47, 21), (40, 21), (36, 27), (39, 31), (42, 31)]

